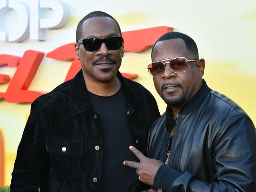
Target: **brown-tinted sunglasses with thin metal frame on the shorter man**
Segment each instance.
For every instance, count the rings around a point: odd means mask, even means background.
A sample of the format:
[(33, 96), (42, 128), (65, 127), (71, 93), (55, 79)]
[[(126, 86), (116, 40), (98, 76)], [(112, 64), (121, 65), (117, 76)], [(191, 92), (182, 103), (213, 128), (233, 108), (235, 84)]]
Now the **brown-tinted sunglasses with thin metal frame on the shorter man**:
[(165, 73), (166, 64), (170, 64), (170, 68), (174, 73), (184, 73), (188, 70), (189, 62), (197, 61), (198, 60), (187, 60), (186, 57), (176, 57), (153, 62), (147, 66), (147, 70), (152, 77), (160, 77)]

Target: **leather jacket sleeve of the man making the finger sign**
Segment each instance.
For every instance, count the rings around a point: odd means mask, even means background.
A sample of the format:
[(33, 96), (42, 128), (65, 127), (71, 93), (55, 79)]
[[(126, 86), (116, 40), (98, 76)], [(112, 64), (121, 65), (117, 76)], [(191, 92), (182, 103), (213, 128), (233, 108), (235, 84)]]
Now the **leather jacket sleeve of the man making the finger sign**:
[(256, 129), (247, 116), (236, 114), (227, 120), (212, 143), (212, 153), (215, 182), (207, 183), (162, 165), (155, 175), (154, 188), (166, 192), (256, 191)]

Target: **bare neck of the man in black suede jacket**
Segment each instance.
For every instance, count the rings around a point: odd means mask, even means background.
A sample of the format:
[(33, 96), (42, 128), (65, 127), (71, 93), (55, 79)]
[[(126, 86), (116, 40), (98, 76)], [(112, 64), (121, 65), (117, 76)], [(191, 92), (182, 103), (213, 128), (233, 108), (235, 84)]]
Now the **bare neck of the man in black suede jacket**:
[(84, 81), (88, 91), (95, 95), (107, 97), (115, 94), (121, 87), (121, 81), (118, 77), (115, 77), (110, 82), (96, 82), (84, 76)]

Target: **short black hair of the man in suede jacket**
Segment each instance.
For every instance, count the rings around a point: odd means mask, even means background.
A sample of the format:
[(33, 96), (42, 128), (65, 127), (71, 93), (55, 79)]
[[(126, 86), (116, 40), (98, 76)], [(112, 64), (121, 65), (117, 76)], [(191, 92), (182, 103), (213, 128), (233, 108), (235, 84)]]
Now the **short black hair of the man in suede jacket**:
[(122, 36), (122, 33), (121, 33), (121, 29), (120, 29), (120, 26), (117, 22), (117, 20), (115, 18), (113, 18), (111, 15), (109, 15), (108, 13), (105, 13), (103, 11), (93, 11), (89, 14), (87, 14), (84, 18), (82, 18), (82, 20), (78, 23), (77, 27), (76, 27), (76, 42), (78, 42), (78, 40), (81, 38), (81, 35), (82, 35), (82, 24), (85, 20), (89, 19), (89, 18), (96, 18), (96, 17), (107, 17), (107, 18), (112, 18), (117, 26), (118, 26), (118, 30), (119, 30), (119, 33), (120, 33), (120, 36)]

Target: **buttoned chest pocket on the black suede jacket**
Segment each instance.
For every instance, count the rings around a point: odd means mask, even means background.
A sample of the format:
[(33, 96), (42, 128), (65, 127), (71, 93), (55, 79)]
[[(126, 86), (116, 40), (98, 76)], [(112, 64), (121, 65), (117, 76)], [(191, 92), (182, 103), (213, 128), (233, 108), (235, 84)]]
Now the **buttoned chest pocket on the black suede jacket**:
[(83, 141), (70, 138), (47, 138), (50, 170), (55, 176), (69, 180), (79, 177)]

